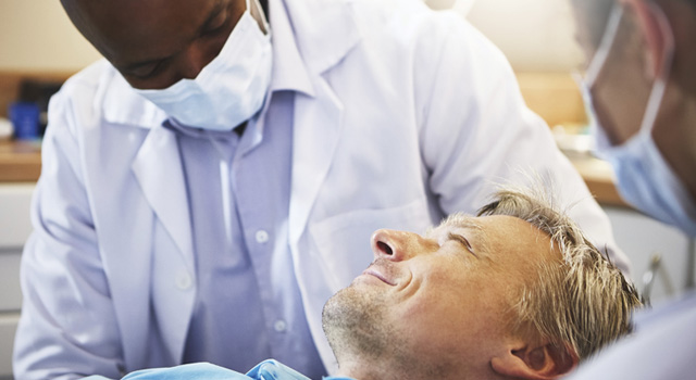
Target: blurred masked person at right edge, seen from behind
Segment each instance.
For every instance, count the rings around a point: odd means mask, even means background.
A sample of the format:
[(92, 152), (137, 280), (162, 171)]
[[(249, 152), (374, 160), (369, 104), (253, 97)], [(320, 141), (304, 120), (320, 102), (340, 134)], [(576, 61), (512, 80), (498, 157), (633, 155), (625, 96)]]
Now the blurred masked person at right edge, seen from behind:
[[(696, 238), (696, 1), (573, 0), (597, 148), (623, 198)], [(696, 293), (635, 317), (636, 332), (575, 379), (691, 379)]]

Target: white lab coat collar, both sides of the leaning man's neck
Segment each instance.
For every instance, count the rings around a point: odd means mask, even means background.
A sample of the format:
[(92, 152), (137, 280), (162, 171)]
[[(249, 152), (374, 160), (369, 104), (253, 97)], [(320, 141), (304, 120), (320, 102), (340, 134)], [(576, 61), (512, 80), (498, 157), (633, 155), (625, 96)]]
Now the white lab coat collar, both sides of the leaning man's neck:
[[(271, 90), (296, 90), (315, 96), (315, 83), (360, 40), (353, 11), (348, 1), (270, 0), (273, 33), (273, 79)], [(152, 128), (166, 114), (136, 93), (113, 67), (101, 81), (100, 102), (104, 119), (111, 124)], [(99, 106), (99, 105), (98, 105)]]

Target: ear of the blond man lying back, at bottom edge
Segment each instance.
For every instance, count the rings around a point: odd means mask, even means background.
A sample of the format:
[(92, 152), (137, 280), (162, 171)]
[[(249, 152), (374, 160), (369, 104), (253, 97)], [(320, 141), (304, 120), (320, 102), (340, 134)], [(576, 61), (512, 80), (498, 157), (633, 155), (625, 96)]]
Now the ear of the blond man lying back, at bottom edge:
[(570, 346), (524, 344), (494, 357), (490, 366), (500, 375), (519, 379), (557, 379), (573, 370), (577, 362)]

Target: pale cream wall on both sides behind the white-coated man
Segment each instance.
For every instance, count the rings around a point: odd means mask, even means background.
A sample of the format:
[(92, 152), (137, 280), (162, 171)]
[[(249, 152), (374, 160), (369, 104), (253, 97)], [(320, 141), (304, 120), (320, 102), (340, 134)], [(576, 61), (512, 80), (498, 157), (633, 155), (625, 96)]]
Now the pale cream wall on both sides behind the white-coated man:
[[(468, 17), (518, 71), (568, 72), (580, 62), (568, 0), (478, 0)], [(0, 69), (78, 71), (97, 59), (59, 0), (0, 0)]]

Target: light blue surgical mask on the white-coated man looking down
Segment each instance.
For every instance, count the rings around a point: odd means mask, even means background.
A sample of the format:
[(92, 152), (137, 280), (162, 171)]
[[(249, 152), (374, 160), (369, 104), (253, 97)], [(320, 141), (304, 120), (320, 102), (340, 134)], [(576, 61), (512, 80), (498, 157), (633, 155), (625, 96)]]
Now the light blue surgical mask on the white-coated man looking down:
[(268, 22), (262, 15), (264, 34), (251, 16), (249, 1), (217, 56), (195, 79), (136, 92), (188, 127), (232, 130), (251, 118), (261, 110), (271, 84), (272, 53)]

